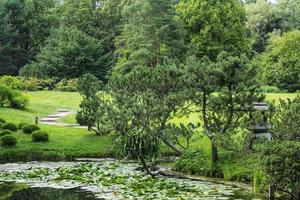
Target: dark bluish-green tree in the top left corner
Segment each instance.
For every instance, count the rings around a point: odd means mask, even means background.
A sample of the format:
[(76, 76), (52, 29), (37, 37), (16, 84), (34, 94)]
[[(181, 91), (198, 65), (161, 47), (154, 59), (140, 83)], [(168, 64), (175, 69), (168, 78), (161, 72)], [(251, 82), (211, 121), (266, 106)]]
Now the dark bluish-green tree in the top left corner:
[[(0, 64), (2, 73), (17, 74), (18, 69), (34, 59), (38, 49), (57, 25), (52, 8), (55, 0), (0, 1), (0, 47), (5, 47)], [(5, 36), (9, 34), (9, 37)], [(4, 39), (5, 38), (5, 39)]]

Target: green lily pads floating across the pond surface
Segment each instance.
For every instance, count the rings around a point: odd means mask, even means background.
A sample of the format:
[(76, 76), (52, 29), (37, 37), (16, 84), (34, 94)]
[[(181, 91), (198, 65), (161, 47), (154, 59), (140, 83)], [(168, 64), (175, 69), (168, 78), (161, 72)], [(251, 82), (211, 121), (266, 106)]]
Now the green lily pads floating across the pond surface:
[(85, 187), (87, 190), (93, 191), (97, 197), (105, 199), (244, 198), (249, 194), (249, 191), (242, 188), (211, 182), (164, 177), (153, 179), (136, 170), (137, 163), (103, 160), (101, 162), (68, 163), (67, 166), (61, 166), (61, 163), (53, 163), (53, 166), (51, 163), (49, 164), (37, 167), (34, 163), (28, 163), (29, 170), (21, 173), (16, 173), (14, 170), (1, 172), (0, 180), (22, 180), (25, 183), (30, 182), (32, 185), (48, 183), (56, 187), (75, 184), (75, 186)]

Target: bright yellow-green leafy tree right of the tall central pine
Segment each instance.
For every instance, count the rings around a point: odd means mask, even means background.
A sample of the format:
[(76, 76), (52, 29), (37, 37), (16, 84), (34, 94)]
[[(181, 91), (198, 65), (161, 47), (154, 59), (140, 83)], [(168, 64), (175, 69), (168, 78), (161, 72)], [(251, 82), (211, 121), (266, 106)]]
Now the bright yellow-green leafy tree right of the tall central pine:
[(188, 30), (190, 46), (202, 58), (216, 60), (222, 51), (249, 50), (245, 11), (238, 0), (181, 0), (177, 12)]

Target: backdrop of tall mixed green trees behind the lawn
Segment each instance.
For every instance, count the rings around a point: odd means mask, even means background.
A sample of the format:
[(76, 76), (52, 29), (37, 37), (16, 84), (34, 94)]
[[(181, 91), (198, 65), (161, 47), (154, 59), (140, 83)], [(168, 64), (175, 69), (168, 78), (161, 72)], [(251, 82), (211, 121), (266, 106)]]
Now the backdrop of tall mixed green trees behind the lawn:
[[(300, 89), (299, 1), (185, 0), (172, 10), (176, 1), (154, 2), (150, 8), (130, 0), (1, 0), (0, 74), (73, 79), (91, 73), (106, 81), (129, 60), (180, 63), (188, 55), (215, 59), (238, 51), (256, 63), (262, 89)], [(168, 16), (153, 13), (158, 9)]]

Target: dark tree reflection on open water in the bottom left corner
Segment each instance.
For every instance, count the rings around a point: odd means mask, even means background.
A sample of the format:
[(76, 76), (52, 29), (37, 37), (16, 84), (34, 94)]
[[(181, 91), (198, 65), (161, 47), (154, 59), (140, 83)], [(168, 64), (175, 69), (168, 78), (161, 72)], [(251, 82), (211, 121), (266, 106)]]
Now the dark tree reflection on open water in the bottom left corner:
[(96, 200), (80, 189), (26, 188), (25, 185), (0, 185), (0, 200)]

